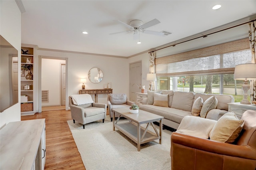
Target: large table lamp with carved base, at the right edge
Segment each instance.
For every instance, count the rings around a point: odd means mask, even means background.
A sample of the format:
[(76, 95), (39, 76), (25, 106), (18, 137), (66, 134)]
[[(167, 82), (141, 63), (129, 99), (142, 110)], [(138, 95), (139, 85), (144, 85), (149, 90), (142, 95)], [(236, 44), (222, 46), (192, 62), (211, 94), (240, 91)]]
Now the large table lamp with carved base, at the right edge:
[(256, 79), (256, 64), (240, 64), (236, 65), (234, 72), (235, 80), (244, 80), (242, 89), (244, 90), (244, 99), (240, 102), (241, 104), (250, 105), (248, 101), (248, 90), (250, 89), (250, 84), (248, 80)]

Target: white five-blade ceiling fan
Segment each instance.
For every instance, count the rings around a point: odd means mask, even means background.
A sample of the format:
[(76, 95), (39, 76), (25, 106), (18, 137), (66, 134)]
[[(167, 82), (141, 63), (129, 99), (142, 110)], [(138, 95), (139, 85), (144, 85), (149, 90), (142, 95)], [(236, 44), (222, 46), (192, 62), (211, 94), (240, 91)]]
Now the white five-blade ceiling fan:
[(133, 32), (134, 40), (139, 40), (139, 41), (140, 41), (140, 32), (145, 33), (145, 34), (153, 34), (153, 35), (157, 35), (157, 36), (165, 36), (166, 35), (164, 32), (145, 30), (146, 28), (149, 28), (151, 26), (159, 24), (160, 21), (157, 19), (146, 22), (145, 24), (143, 24), (143, 22), (141, 20), (132, 20), (130, 22), (130, 25), (125, 24), (124, 22), (119, 21), (119, 20), (118, 20), (118, 22), (120, 22), (120, 24), (129, 28), (130, 30), (122, 31), (122, 32), (115, 32), (115, 33), (111, 33), (110, 35), (124, 33), (124, 32)]

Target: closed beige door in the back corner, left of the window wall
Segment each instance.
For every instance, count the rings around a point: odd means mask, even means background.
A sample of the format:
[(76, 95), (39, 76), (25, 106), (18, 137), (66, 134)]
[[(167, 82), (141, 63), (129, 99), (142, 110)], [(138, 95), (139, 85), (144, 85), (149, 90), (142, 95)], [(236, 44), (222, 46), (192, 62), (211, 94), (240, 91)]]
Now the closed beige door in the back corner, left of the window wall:
[(136, 93), (141, 92), (141, 61), (130, 64), (130, 101), (136, 102)]

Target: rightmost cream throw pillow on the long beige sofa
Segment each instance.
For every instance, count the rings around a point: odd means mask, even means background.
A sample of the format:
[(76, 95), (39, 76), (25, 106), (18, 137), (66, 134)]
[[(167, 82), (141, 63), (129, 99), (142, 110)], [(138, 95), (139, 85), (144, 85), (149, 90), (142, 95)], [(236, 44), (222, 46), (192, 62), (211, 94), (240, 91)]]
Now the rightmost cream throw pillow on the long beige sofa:
[(216, 109), (217, 105), (218, 105), (218, 100), (216, 99), (216, 97), (215, 96), (209, 97), (206, 101), (204, 101), (204, 104), (200, 111), (200, 117), (206, 118), (207, 113), (212, 109)]

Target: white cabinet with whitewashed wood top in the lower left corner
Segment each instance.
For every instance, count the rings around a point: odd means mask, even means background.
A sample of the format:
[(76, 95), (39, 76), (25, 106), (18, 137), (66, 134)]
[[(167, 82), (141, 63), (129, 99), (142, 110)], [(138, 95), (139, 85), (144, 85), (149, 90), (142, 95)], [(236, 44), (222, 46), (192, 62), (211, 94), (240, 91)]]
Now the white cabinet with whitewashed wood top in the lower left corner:
[(10, 122), (0, 134), (1, 170), (44, 170), (45, 119)]

